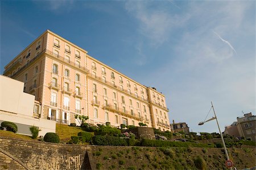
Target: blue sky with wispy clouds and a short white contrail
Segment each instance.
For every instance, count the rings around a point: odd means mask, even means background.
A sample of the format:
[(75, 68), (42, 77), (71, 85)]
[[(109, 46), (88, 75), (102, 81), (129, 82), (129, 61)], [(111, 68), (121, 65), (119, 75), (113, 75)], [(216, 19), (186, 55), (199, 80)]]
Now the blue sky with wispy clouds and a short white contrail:
[[(170, 122), (255, 115), (255, 1), (0, 1), (1, 73), (51, 30), (166, 95)], [(209, 114), (212, 117), (213, 113)]]

